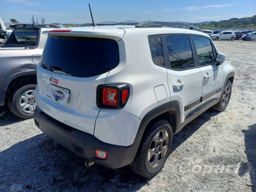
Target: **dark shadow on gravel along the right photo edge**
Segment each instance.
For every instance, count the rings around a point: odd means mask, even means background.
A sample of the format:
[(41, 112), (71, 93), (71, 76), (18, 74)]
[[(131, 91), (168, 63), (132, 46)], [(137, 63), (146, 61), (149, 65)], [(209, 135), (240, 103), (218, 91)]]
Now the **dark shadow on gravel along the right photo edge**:
[(252, 192), (256, 192), (256, 124), (248, 126), (248, 130), (242, 130), (244, 133), (245, 153), (248, 159), (248, 171), (252, 184)]

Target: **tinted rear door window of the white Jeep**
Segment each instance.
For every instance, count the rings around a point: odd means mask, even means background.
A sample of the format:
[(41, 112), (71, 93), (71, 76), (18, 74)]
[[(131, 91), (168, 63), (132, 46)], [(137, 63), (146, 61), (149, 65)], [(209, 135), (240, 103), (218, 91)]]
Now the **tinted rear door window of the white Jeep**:
[(188, 36), (166, 36), (171, 68), (186, 69), (194, 67), (194, 60)]

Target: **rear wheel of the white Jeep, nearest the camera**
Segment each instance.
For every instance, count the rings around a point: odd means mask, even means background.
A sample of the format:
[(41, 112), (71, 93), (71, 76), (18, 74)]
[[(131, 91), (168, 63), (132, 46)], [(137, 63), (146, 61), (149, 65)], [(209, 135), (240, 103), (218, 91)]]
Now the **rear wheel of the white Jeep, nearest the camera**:
[(143, 177), (150, 178), (163, 168), (172, 146), (170, 123), (159, 120), (142, 137), (137, 154), (130, 168)]

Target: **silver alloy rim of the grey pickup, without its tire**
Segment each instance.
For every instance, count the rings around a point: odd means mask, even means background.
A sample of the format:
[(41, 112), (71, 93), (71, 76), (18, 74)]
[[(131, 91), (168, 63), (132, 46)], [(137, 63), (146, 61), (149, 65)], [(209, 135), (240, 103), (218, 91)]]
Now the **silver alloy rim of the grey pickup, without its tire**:
[(20, 97), (19, 106), (24, 113), (31, 114), (36, 108), (35, 90), (28, 90)]

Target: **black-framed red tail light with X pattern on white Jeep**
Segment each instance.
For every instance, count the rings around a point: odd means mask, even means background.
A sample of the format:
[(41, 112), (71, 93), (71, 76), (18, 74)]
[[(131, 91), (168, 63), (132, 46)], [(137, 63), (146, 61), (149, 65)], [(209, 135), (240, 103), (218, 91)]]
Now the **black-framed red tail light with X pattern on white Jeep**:
[(126, 84), (108, 84), (97, 87), (97, 106), (99, 108), (123, 108), (130, 94), (130, 87)]

